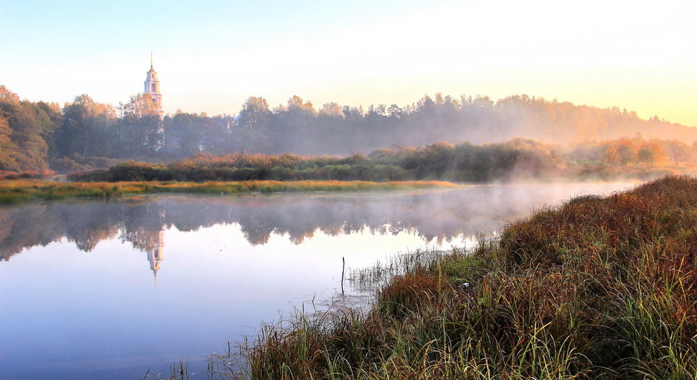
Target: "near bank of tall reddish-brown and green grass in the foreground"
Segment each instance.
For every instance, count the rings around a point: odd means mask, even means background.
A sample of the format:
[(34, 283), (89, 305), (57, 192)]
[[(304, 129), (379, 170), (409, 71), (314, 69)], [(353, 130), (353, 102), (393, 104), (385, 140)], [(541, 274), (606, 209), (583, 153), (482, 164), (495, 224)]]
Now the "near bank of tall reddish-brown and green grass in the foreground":
[(695, 178), (577, 197), (475, 252), (401, 263), (372, 311), (266, 328), (236, 376), (697, 379)]

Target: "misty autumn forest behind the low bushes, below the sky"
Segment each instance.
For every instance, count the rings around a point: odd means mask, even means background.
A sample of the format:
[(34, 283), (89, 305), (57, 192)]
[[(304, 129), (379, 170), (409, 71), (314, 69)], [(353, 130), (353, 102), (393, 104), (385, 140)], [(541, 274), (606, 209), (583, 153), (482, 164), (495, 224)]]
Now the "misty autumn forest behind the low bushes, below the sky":
[(271, 108), (250, 97), (238, 115), (177, 112), (160, 121), (151, 100), (135, 95), (118, 107), (77, 96), (63, 107), (20, 100), (0, 86), (0, 171), (89, 169), (108, 158), (169, 160), (197, 153), (349, 155), (434, 142), (503, 142), (526, 137), (570, 144), (619, 137), (677, 139), (692, 144), (697, 128), (617, 107), (600, 109), (529, 96), (497, 101), (477, 96), (424, 96), (412, 105), (367, 109), (328, 103), (316, 108), (293, 96)]

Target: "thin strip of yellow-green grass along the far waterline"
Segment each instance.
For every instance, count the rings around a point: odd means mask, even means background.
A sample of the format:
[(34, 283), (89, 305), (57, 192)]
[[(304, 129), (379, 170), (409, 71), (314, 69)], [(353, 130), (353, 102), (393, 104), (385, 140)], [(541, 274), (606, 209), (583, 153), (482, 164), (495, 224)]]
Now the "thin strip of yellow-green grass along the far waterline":
[(236, 181), (236, 182), (91, 182), (59, 183), (38, 179), (0, 181), (0, 204), (14, 204), (39, 199), (77, 197), (114, 198), (123, 195), (156, 193), (243, 194), (246, 192), (312, 192), (413, 190), (447, 188), (458, 185), (442, 181)]

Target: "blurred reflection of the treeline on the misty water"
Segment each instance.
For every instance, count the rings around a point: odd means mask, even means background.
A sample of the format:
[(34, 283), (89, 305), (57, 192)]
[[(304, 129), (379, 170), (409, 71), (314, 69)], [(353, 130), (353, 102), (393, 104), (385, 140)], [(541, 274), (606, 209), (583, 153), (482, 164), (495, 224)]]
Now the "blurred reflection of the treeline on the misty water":
[(525, 197), (504, 187), (354, 195), (248, 195), (243, 197), (153, 197), (122, 202), (30, 204), (0, 208), (0, 257), (65, 237), (89, 252), (107, 238), (151, 250), (162, 228), (195, 231), (237, 223), (247, 241), (264, 244), (287, 234), (299, 244), (315, 231), (336, 236), (367, 228), (373, 234), (407, 231), (425, 241), (489, 233), (503, 220), (549, 202), (542, 190)]

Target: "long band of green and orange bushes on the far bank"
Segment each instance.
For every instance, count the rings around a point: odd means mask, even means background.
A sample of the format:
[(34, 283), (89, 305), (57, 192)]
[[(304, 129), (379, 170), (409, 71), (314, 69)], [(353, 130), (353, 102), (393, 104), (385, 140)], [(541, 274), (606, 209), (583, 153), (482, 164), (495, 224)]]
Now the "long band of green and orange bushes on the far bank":
[[(88, 172), (71, 172), (68, 178), (82, 182), (116, 181), (614, 181), (621, 178), (647, 181), (667, 175), (694, 174), (694, 162), (673, 162), (657, 157), (638, 160), (638, 147), (622, 140), (622, 160), (558, 151), (528, 139), (499, 144), (452, 146), (436, 143), (421, 149), (380, 149), (369, 155), (348, 157), (293, 154), (196, 155), (166, 163), (128, 160)], [(580, 148), (581, 146), (579, 146)], [(590, 147), (586, 146), (582, 151)], [(656, 148), (658, 149), (658, 148)], [(616, 150), (610, 150), (617, 155)], [(634, 152), (634, 153), (632, 153)], [(588, 153), (588, 152), (586, 152)], [(657, 153), (656, 153), (657, 154)], [(575, 158), (574, 158), (575, 157)], [(585, 157), (580, 159), (581, 157)], [(619, 157), (619, 156), (618, 156)], [(608, 161), (609, 160), (609, 161)]]

